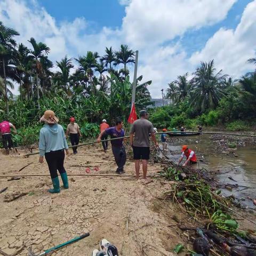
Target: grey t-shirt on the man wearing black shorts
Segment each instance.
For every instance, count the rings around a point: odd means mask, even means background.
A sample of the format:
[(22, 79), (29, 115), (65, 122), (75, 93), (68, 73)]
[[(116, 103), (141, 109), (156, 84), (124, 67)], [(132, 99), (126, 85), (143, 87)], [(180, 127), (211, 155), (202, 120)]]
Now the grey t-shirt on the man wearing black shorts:
[(149, 147), (149, 133), (155, 133), (153, 124), (147, 119), (140, 118), (136, 120), (131, 127), (131, 132), (134, 134), (134, 147)]

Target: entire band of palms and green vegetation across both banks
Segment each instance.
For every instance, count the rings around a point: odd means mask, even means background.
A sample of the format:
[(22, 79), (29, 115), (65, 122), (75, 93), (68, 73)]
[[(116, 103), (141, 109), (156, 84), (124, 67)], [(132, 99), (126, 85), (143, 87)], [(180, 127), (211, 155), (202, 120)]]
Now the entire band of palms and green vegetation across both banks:
[[(38, 140), (42, 124), (38, 119), (52, 109), (66, 128), (70, 116), (81, 126), (83, 138), (95, 137), (98, 124), (106, 118), (113, 125), (116, 117), (124, 122), (130, 114), (132, 83), (128, 65), (134, 63), (134, 52), (127, 45), (118, 50), (106, 47), (105, 54), (87, 51), (76, 58), (63, 57), (53, 63), (51, 49), (35, 38), (30, 47), (15, 42), (18, 31), (0, 21), (0, 120), (9, 119), (18, 128), (15, 145), (29, 145)], [(255, 63), (254, 59), (250, 62)], [(77, 66), (75, 69), (74, 67)], [(57, 71), (52, 71), (53, 67)], [(214, 61), (201, 62), (190, 75), (178, 76), (169, 84), (166, 97), (172, 104), (150, 109), (156, 127), (186, 126), (195, 129), (221, 125), (228, 130), (247, 129), (247, 120), (256, 117), (256, 74), (248, 73), (239, 81), (214, 68)], [(11, 89), (19, 84), (20, 94)], [(137, 79), (137, 111), (147, 108), (151, 81)]]

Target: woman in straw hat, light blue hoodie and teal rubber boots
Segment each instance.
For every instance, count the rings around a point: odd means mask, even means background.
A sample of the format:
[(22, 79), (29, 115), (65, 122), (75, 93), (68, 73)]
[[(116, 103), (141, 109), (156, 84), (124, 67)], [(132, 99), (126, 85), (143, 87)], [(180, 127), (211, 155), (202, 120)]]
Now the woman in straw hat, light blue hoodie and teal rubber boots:
[(46, 110), (41, 117), (40, 122), (45, 125), (40, 130), (39, 136), (39, 163), (44, 162), (44, 156), (49, 166), (52, 178), (53, 189), (49, 189), (50, 193), (60, 193), (60, 182), (57, 170), (63, 182), (63, 187), (68, 188), (68, 176), (63, 166), (65, 153), (68, 154), (68, 144), (66, 141), (63, 127), (58, 124), (59, 119), (52, 110)]

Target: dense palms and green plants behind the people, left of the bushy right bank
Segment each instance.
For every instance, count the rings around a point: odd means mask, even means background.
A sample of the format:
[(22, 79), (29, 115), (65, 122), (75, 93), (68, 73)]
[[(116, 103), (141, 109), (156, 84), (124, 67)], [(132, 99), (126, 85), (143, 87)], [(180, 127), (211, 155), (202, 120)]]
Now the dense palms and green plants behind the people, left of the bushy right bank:
[[(43, 125), (39, 117), (47, 109), (55, 112), (65, 129), (70, 116), (75, 116), (83, 138), (98, 135), (103, 118), (111, 125), (117, 117), (127, 120), (132, 96), (127, 65), (134, 63), (135, 55), (127, 45), (116, 51), (106, 47), (102, 57), (91, 51), (77, 58), (65, 56), (54, 65), (47, 57), (50, 49), (45, 43), (30, 38), (29, 49), (17, 45), (14, 37), (18, 35), (0, 22), (0, 120), (9, 119), (18, 128), (15, 146), (38, 141)], [(58, 69), (55, 72), (54, 66)], [(18, 98), (10, 91), (13, 83), (19, 84)], [(138, 77), (137, 111), (150, 105), (150, 84)]]

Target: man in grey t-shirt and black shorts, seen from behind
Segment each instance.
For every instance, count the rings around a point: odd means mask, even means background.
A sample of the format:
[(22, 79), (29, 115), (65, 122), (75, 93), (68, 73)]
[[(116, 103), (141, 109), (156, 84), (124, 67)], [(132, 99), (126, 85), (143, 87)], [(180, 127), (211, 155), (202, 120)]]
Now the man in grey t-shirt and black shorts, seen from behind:
[[(133, 148), (133, 159), (135, 160), (136, 178), (140, 176), (140, 159), (142, 159), (143, 178), (147, 178), (148, 160), (150, 155), (149, 134), (158, 147), (153, 124), (148, 120), (147, 110), (140, 111), (140, 119), (134, 121), (130, 131), (130, 144)], [(134, 135), (134, 138), (133, 138)]]

